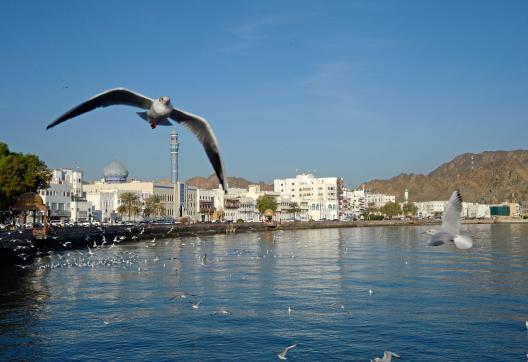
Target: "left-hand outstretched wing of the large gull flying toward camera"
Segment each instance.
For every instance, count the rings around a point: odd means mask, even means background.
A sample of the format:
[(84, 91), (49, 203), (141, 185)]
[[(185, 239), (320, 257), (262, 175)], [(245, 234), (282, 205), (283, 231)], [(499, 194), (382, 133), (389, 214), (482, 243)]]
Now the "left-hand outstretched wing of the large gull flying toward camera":
[(149, 109), (152, 105), (152, 99), (145, 97), (142, 94), (129, 91), (125, 88), (110, 89), (104, 91), (103, 93), (97, 94), (86, 102), (83, 102), (70, 109), (68, 112), (64, 113), (62, 116), (53, 121), (53, 123), (49, 124), (46, 129), (55, 127), (59, 123), (77, 117), (83, 113), (93, 111), (96, 108), (108, 107), (118, 104)]

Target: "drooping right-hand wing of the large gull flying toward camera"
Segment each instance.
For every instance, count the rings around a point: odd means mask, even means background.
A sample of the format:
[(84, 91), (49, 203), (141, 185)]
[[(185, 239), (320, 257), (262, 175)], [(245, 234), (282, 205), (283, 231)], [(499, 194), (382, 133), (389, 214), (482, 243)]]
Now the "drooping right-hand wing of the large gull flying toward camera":
[(216, 141), (216, 137), (211, 126), (209, 126), (209, 123), (199, 116), (176, 108), (172, 110), (169, 117), (185, 126), (196, 136), (196, 138), (198, 138), (205, 149), (209, 161), (213, 165), (218, 180), (222, 184), (224, 191), (227, 192), (227, 182), (224, 178), (224, 163), (220, 156), (218, 142)]

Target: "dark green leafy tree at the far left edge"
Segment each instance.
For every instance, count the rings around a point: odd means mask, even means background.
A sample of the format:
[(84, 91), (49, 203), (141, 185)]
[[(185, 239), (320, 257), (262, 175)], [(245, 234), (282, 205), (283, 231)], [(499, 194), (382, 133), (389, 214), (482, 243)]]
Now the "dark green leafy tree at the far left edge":
[(0, 142), (0, 210), (7, 210), (24, 192), (46, 189), (51, 171), (38, 156), (9, 151)]

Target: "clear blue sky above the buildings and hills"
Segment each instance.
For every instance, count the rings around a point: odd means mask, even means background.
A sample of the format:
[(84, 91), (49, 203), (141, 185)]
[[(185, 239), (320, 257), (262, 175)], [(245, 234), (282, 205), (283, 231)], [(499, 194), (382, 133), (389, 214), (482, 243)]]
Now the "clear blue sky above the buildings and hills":
[[(113, 87), (205, 117), (228, 175), (348, 186), (527, 148), (528, 1), (5, 1), (0, 141), (97, 179), (169, 177), (170, 127), (98, 109)], [(65, 88), (67, 87), (67, 88)], [(213, 172), (181, 135), (180, 178)]]

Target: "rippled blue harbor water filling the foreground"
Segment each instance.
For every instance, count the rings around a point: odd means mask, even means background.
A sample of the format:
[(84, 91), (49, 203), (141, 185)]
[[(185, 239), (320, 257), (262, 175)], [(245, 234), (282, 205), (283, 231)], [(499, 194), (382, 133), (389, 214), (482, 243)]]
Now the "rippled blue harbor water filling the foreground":
[(384, 350), (405, 361), (526, 360), (528, 225), (463, 226), (470, 250), (424, 246), (423, 230), (200, 236), (52, 255), (3, 271), (0, 360), (272, 361), (294, 343), (291, 361), (368, 361)]

